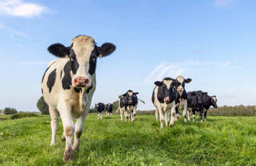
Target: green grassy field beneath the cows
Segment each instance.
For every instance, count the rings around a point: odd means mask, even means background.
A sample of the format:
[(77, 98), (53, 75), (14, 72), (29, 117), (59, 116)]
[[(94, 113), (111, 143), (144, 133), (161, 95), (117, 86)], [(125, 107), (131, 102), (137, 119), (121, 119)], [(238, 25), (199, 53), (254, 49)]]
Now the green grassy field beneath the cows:
[[(198, 117), (198, 116), (197, 116)], [(1, 117), (0, 117), (1, 118)], [(6, 117), (5, 117), (6, 118)], [(120, 115), (97, 120), (89, 114), (74, 162), (64, 163), (59, 121), (57, 145), (50, 146), (50, 116), (0, 121), (0, 165), (256, 165), (256, 117), (208, 117), (206, 122), (160, 128), (155, 116)]]

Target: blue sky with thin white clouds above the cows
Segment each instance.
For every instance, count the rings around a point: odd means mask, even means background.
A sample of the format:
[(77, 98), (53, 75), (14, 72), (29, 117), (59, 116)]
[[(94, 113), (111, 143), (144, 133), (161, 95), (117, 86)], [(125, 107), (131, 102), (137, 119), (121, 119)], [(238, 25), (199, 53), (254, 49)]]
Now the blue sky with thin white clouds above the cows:
[(139, 92), (137, 110), (154, 109), (155, 81), (182, 75), (186, 91), (217, 105), (256, 105), (256, 1), (0, 1), (0, 109), (38, 111), (47, 47), (89, 35), (116, 51), (98, 59), (92, 105)]

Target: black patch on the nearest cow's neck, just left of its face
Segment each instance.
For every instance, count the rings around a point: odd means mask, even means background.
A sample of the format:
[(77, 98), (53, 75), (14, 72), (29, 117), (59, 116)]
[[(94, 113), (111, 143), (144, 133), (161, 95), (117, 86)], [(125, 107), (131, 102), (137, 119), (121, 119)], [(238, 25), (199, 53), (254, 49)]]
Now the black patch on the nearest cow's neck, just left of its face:
[(62, 82), (62, 88), (64, 90), (71, 89), (72, 85), (72, 78), (71, 78), (71, 61), (68, 61), (66, 65), (64, 66), (64, 76), (61, 80)]

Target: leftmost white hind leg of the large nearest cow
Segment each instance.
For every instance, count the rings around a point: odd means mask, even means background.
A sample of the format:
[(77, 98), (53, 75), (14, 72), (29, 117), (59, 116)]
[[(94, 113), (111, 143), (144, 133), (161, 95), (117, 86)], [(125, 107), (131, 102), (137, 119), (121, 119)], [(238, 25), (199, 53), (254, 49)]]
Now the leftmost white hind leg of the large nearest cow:
[(49, 106), (49, 112), (51, 115), (51, 128), (52, 128), (52, 141), (51, 145), (56, 145), (56, 132), (58, 130), (58, 111), (56, 109), (53, 109), (51, 106)]

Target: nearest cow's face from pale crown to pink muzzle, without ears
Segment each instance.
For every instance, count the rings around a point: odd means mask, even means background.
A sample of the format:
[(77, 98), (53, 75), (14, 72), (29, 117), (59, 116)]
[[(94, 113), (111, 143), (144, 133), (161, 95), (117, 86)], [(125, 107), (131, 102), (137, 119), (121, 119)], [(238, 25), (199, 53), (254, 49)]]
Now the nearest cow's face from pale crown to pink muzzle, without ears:
[[(90, 87), (92, 85), (92, 75), (95, 73), (97, 61), (96, 49), (94, 39), (89, 36), (78, 36), (72, 40), (70, 57), (71, 61), (76, 61), (75, 63), (78, 65), (76, 72), (72, 73), (72, 86)], [(90, 69), (90, 67), (94, 69)], [(89, 72), (89, 69), (94, 71), (93, 74)]]

